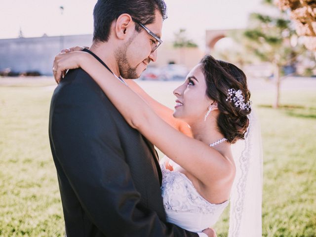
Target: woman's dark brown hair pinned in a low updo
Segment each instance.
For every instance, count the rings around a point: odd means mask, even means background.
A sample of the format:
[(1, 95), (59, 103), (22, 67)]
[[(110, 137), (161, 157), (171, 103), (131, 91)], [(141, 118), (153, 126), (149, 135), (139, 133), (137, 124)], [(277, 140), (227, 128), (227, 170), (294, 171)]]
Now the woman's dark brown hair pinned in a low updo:
[[(228, 90), (241, 90), (244, 103), (250, 98), (245, 74), (235, 65), (216, 60), (206, 55), (201, 60), (202, 72), (206, 81), (206, 94), (218, 104), (219, 116), (217, 126), (219, 131), (233, 144), (239, 139), (244, 139), (247, 130), (251, 108), (242, 109), (234, 101), (227, 100)], [(234, 97), (234, 95), (233, 95)]]

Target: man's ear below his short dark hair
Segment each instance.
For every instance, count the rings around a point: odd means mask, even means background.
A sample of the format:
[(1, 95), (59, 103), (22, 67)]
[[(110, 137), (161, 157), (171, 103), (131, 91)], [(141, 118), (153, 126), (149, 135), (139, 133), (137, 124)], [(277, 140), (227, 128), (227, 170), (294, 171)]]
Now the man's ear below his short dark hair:
[(121, 14), (115, 24), (115, 34), (119, 40), (124, 40), (128, 35), (132, 34), (135, 30), (135, 23), (132, 17), (127, 14)]

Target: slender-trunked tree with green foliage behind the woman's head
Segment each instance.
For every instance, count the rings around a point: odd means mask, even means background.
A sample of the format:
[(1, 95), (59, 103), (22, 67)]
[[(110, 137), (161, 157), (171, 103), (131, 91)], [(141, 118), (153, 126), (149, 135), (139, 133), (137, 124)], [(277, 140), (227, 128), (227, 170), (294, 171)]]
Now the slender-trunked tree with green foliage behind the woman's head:
[(243, 44), (248, 53), (260, 61), (271, 62), (276, 84), (274, 108), (279, 107), (281, 76), (286, 66), (294, 66), (297, 56), (302, 52), (300, 45), (291, 44), (291, 39), (297, 37), (289, 16), (279, 11), (272, 0), (264, 0), (275, 12), (274, 15), (252, 13), (249, 27), (243, 32)]

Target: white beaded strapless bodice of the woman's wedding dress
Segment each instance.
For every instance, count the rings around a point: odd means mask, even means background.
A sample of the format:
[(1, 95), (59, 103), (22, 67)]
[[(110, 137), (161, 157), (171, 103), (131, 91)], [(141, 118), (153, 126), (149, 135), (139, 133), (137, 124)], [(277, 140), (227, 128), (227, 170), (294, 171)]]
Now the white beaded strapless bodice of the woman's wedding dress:
[(161, 193), (167, 222), (192, 232), (201, 232), (214, 225), (229, 200), (221, 204), (210, 203), (199, 195), (185, 174), (166, 169), (165, 163), (160, 166)]

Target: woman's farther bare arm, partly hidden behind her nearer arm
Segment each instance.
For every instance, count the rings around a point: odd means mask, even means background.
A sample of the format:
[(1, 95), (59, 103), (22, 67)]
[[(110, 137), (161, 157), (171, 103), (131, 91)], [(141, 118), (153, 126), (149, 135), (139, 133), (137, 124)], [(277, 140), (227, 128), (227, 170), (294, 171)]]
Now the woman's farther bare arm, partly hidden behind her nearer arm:
[(155, 113), (162, 118), (166, 123), (177, 129), (178, 131), (192, 137), (192, 132), (189, 125), (181, 121), (180, 119), (173, 117), (173, 111), (160, 104), (157, 100), (151, 97), (146, 91), (143, 90), (135, 81), (131, 79), (125, 79), (125, 82), (128, 84), (129, 88), (131, 88), (135, 93), (137, 93), (143, 100), (147, 102), (147, 104), (155, 111)]

